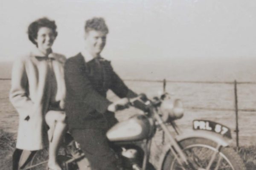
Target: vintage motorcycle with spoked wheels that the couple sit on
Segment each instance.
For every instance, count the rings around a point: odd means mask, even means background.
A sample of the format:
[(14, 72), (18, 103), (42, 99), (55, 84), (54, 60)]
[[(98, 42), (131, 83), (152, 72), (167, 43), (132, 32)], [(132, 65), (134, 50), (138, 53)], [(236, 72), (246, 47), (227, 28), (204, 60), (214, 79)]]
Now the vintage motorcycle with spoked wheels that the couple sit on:
[[(175, 120), (183, 117), (180, 99), (163, 94), (149, 100), (145, 95), (130, 99), (144, 102), (146, 111), (119, 122), (107, 132), (107, 137), (125, 170), (246, 170), (238, 153), (230, 147), (231, 131), (225, 125), (209, 120), (194, 120), (191, 133), (181, 133)], [(173, 128), (175, 134), (170, 131)], [(152, 139), (157, 130), (163, 130), (167, 142), (162, 147), (158, 164), (149, 161)], [(20, 164), (20, 170), (40, 170), (46, 167), (47, 149), (30, 155)], [(58, 153), (63, 170), (90, 170), (72, 136), (67, 133)]]

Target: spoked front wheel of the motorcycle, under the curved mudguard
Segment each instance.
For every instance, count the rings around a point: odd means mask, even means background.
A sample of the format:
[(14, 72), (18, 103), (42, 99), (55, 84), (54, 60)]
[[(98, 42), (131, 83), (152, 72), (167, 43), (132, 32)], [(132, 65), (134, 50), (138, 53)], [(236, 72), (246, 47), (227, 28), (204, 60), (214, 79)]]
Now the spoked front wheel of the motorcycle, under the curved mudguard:
[[(179, 142), (180, 147), (186, 154), (196, 170), (206, 170), (211, 158), (214, 156), (217, 144), (208, 139), (192, 138)], [(164, 156), (161, 170), (183, 170), (177, 159), (168, 150)], [(215, 156), (210, 170), (246, 170), (244, 162), (230, 147), (222, 147)]]

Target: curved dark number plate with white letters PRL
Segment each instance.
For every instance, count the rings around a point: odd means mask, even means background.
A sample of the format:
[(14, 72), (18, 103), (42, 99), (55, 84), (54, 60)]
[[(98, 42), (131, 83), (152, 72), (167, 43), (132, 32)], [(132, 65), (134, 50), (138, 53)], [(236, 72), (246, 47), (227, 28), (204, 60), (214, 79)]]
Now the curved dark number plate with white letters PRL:
[(221, 125), (220, 123), (212, 122), (209, 120), (193, 120), (193, 129), (208, 130), (226, 136), (230, 139), (232, 138), (230, 128)]

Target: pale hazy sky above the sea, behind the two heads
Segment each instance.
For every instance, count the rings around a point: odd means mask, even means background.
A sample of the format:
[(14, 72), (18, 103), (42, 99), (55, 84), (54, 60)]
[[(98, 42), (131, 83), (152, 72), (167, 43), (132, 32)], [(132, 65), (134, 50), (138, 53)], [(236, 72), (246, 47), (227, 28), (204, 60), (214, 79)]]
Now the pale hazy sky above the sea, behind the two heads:
[(84, 23), (104, 17), (108, 59), (256, 57), (255, 0), (1, 0), (0, 61), (27, 54), (29, 23), (55, 20), (53, 51), (83, 48)]

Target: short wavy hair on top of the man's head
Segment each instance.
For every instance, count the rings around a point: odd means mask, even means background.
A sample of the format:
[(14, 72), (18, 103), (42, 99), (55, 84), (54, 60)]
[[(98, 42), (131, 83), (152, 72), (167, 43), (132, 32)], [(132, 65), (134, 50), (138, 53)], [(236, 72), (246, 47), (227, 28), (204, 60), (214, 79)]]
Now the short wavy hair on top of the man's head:
[(84, 26), (84, 30), (87, 33), (91, 30), (95, 30), (108, 34), (108, 26), (102, 17), (93, 17), (92, 19), (87, 20)]

